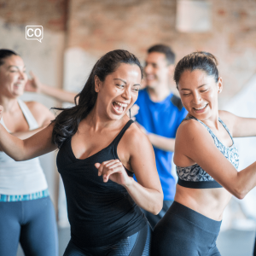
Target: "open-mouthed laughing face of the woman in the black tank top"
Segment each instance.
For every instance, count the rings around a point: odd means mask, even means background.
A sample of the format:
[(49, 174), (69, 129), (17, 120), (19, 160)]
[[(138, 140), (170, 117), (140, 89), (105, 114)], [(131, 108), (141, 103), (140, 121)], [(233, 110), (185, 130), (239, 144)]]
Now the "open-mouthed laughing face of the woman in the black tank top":
[(122, 63), (104, 81), (96, 77), (97, 108), (109, 119), (121, 119), (137, 101), (142, 73), (137, 65)]

